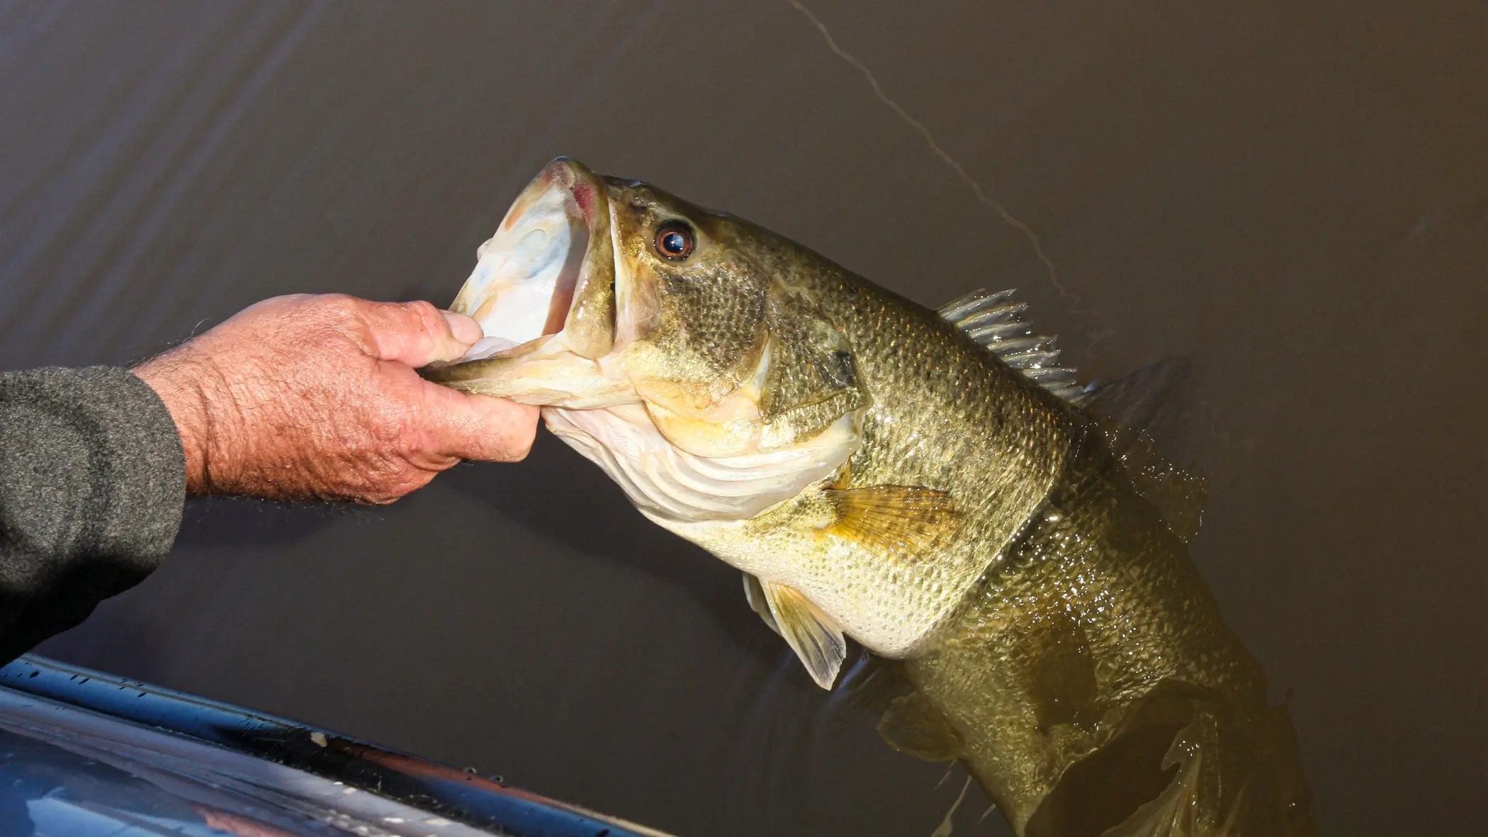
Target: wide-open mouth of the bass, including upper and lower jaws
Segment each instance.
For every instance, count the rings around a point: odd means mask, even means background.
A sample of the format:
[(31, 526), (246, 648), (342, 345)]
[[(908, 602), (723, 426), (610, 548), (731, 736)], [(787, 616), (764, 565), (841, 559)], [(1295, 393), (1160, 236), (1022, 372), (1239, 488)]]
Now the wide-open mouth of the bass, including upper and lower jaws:
[(601, 381), (595, 363), (615, 344), (607, 191), (567, 158), (522, 189), (449, 307), (485, 337), (460, 360), (421, 369), (426, 378), (527, 404), (589, 407), (619, 396), (619, 381)]

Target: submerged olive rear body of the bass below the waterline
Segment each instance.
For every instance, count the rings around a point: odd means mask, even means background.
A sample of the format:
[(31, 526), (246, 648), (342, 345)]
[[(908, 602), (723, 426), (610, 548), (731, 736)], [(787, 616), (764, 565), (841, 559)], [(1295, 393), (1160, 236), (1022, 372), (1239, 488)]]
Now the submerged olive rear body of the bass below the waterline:
[(943, 724), (1021, 834), (1315, 833), (1286, 710), (1101, 438), (905, 672), (885, 734)]

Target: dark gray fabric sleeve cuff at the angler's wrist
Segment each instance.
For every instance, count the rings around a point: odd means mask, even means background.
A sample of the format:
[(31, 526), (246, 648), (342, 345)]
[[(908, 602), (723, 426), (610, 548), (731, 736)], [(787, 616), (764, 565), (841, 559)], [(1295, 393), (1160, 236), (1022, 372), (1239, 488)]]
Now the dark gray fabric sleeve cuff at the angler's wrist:
[(186, 460), (126, 369), (0, 374), (0, 663), (134, 587), (176, 541)]

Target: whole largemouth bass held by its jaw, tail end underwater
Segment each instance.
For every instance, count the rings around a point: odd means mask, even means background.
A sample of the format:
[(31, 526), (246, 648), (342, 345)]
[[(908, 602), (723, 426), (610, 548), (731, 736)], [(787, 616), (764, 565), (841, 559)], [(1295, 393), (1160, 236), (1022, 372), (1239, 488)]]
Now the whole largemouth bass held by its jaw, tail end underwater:
[(744, 572), (879, 731), (1019, 836), (1315, 833), (1284, 707), (1187, 558), (1192, 481), (1089, 407), (1010, 293), (931, 311), (738, 217), (557, 159), (426, 369), (543, 407), (647, 518)]

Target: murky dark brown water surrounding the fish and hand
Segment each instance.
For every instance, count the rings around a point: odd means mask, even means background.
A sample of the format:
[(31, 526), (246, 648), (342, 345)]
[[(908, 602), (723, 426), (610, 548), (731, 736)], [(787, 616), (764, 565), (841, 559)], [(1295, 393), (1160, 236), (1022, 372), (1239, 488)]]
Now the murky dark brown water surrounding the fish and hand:
[[(1195, 560), (1324, 833), (1488, 833), (1488, 12), (1242, 6), (812, 4), (1070, 302), (784, 0), (3, 3), (0, 365), (274, 293), (448, 302), (558, 153), (926, 304), (1016, 286), (1088, 374), (1196, 362)], [(961, 788), (552, 438), (390, 509), (187, 517), (43, 651), (682, 834), (927, 837)]]

